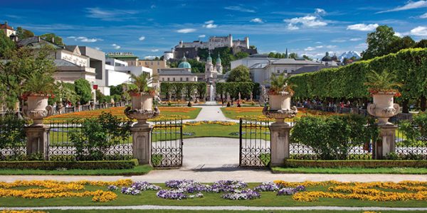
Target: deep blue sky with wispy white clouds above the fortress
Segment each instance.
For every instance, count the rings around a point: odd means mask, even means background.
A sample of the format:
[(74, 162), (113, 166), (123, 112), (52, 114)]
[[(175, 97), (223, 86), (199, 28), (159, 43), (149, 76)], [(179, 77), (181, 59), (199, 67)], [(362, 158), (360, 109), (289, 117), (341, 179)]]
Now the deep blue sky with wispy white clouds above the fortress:
[(248, 36), (260, 53), (361, 52), (367, 33), (388, 25), (427, 38), (427, 1), (3, 1), (0, 21), (36, 34), (56, 33), (68, 45), (160, 56), (179, 40)]

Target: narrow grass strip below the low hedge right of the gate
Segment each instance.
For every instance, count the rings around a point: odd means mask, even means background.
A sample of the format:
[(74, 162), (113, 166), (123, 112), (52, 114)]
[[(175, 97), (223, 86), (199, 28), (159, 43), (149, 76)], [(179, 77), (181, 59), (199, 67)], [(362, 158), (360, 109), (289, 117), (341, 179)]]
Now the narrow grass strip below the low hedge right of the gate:
[(427, 174), (427, 168), (271, 168), (273, 173), (320, 173), (320, 174)]

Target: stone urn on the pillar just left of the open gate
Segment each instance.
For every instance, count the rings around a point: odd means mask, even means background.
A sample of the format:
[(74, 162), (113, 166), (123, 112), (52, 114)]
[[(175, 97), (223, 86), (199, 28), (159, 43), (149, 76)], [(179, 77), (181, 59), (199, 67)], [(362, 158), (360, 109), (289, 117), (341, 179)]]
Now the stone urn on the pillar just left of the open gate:
[(157, 107), (153, 109), (153, 96), (144, 92), (131, 94), (132, 107), (125, 109), (125, 114), (129, 119), (137, 119), (135, 126), (147, 126), (147, 119), (159, 116)]

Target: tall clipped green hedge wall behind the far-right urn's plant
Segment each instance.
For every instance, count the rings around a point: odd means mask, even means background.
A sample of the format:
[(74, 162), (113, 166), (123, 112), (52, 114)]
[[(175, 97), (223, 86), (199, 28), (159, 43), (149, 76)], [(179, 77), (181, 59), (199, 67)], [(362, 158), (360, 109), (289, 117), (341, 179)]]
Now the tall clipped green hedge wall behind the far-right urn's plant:
[(397, 80), (404, 84), (399, 89), (404, 99), (427, 97), (427, 48), (405, 49), (339, 68), (295, 75), (290, 83), (296, 86), (294, 97), (301, 99), (367, 98), (364, 82), (370, 70), (396, 72)]

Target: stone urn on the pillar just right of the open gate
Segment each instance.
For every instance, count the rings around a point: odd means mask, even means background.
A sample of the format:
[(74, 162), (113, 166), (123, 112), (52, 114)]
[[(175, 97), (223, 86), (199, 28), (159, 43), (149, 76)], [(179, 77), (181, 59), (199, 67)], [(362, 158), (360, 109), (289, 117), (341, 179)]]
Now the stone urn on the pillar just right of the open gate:
[(283, 124), (285, 119), (295, 117), (297, 114), (297, 107), (290, 107), (290, 92), (279, 92), (279, 94), (270, 94), (268, 101), (270, 107), (267, 106), (263, 109), (263, 114), (268, 118), (275, 119), (275, 124)]

